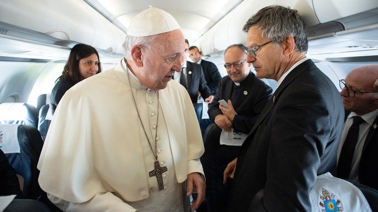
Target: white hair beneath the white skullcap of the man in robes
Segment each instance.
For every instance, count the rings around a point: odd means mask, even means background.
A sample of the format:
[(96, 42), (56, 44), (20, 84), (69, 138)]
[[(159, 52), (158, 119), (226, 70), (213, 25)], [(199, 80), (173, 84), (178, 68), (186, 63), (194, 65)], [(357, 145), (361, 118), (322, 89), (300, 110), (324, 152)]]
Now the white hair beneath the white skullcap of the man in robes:
[(130, 36), (126, 35), (124, 42), (123, 42), (123, 50), (124, 50), (124, 56), (127, 59), (131, 59), (131, 48), (135, 45), (142, 46), (147, 51), (150, 51), (153, 44), (156, 43), (158, 35), (150, 35), (145, 37), (136, 37), (136, 36)]

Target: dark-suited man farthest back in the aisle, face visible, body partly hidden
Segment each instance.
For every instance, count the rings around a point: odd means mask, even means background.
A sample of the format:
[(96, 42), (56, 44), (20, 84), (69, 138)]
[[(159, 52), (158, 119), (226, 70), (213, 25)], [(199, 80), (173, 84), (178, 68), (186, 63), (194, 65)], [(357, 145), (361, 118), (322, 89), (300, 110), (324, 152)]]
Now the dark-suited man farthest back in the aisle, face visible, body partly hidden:
[(201, 56), (202, 52), (198, 49), (197, 46), (189, 47), (189, 57), (193, 60), (193, 62), (202, 66), (206, 83), (210, 88), (211, 94), (215, 95), (215, 93), (217, 92), (219, 80), (222, 77), (218, 71), (217, 66), (210, 61), (201, 59)]

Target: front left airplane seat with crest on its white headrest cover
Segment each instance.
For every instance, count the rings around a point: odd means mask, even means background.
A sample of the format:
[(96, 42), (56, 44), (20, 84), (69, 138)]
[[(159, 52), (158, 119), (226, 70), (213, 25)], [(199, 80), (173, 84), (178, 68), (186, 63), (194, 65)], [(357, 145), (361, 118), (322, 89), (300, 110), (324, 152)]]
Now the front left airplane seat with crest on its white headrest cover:
[(0, 148), (16, 173), (23, 177), (22, 194), (27, 199), (38, 199), (41, 195), (37, 163), (42, 146), (41, 135), (34, 126), (0, 124)]

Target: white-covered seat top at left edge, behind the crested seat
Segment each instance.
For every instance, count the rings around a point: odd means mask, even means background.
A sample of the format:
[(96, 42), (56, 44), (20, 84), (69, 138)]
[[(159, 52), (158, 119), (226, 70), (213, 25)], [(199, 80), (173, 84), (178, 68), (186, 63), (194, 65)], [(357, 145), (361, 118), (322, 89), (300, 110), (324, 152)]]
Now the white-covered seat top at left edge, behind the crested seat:
[(5, 102), (0, 104), (0, 124), (25, 124), (37, 128), (38, 111), (25, 102)]

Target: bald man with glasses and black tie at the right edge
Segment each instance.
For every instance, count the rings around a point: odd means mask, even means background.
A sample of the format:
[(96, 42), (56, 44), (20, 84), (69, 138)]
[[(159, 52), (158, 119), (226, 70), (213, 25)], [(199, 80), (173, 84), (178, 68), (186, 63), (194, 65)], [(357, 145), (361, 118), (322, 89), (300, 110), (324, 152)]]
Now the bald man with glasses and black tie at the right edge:
[(373, 88), (376, 78), (378, 65), (365, 65), (353, 69), (340, 80), (340, 94), (348, 113), (337, 165), (337, 177), (374, 189), (378, 189), (378, 93)]

